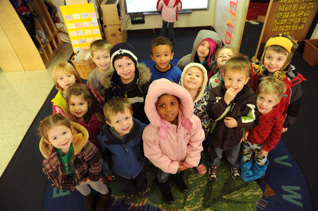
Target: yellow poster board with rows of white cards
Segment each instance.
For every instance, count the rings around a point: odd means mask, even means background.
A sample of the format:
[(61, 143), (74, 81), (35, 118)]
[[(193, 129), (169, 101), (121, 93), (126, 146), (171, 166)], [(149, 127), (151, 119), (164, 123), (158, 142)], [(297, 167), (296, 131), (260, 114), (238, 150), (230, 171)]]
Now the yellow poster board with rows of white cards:
[(74, 53), (88, 50), (90, 44), (101, 39), (93, 4), (60, 6)]

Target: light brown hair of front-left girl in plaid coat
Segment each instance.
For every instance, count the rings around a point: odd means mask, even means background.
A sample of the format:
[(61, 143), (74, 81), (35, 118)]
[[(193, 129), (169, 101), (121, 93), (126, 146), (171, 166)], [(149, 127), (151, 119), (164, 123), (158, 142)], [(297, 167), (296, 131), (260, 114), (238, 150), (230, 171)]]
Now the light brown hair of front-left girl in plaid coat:
[(44, 120), (40, 121), (40, 126), (38, 128), (41, 136), (44, 139), (49, 139), (48, 131), (51, 130), (53, 127), (64, 125), (71, 129), (71, 121), (67, 119), (65, 116), (62, 116), (60, 113), (52, 114), (47, 116)]

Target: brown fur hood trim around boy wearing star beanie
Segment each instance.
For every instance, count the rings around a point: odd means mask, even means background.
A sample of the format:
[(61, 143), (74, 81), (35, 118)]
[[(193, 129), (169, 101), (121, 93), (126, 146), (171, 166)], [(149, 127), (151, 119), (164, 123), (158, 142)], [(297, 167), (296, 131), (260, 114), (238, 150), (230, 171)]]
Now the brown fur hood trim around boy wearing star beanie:
[[(114, 68), (111, 68), (110, 71), (106, 72), (101, 79), (101, 84), (106, 88), (111, 88), (114, 85), (118, 85), (118, 79), (120, 76), (117, 74)], [(137, 67), (135, 68), (135, 78), (137, 86), (142, 86), (148, 83), (151, 80), (151, 72), (150, 69), (141, 63), (137, 63)]]

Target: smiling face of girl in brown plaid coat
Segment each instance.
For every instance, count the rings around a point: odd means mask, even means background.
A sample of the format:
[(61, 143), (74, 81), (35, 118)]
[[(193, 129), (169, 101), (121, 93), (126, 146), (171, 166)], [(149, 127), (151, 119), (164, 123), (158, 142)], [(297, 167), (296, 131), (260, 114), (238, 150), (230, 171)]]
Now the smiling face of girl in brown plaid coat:
[(46, 143), (53, 147), (61, 149), (62, 152), (68, 152), (73, 140), (73, 127), (68, 128), (65, 125), (54, 126), (48, 131), (48, 138), (44, 139)]

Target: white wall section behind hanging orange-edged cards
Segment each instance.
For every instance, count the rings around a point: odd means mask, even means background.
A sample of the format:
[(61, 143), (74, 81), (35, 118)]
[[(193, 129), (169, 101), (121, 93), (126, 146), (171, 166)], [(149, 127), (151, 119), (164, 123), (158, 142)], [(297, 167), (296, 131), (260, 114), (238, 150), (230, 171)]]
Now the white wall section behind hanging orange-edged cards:
[[(228, 46), (238, 50), (243, 26), (245, 25), (246, 11), (248, 9), (248, 0), (239, 0), (235, 20), (234, 27), (232, 32), (232, 38)], [(230, 1), (229, 0), (216, 0), (214, 12), (214, 23), (213, 28), (222, 38), (223, 43), (225, 43), (225, 34), (227, 30), (227, 20), (230, 13)]]

